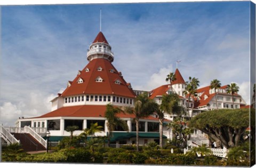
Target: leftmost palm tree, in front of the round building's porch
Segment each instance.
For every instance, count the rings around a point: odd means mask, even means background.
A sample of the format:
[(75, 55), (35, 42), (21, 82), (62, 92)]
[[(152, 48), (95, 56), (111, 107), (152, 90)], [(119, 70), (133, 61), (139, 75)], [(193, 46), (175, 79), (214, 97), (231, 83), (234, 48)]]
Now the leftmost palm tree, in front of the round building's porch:
[(116, 115), (121, 113), (122, 110), (117, 107), (113, 107), (108, 104), (105, 112), (105, 117), (107, 118), (107, 127), (108, 127), (108, 146), (110, 146), (110, 138), (112, 136), (112, 132), (115, 130), (116, 126), (121, 126), (125, 131), (128, 130), (127, 122), (123, 121)]

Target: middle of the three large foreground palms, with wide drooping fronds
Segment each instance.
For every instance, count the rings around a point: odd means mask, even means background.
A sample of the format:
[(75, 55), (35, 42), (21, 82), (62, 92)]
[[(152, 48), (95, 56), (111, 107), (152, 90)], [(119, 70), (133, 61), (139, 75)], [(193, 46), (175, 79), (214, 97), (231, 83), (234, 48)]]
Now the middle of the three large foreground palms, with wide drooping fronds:
[(154, 100), (148, 98), (147, 93), (142, 93), (138, 95), (135, 99), (134, 107), (124, 107), (124, 111), (129, 114), (134, 115), (134, 120), (136, 123), (136, 147), (139, 151), (139, 119), (142, 117), (148, 117), (157, 111), (157, 103)]

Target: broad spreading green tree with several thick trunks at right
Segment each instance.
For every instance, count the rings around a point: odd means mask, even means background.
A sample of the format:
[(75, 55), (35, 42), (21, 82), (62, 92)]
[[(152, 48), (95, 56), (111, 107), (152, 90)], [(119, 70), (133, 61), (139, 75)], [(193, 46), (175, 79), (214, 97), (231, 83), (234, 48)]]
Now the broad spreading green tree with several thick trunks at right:
[(209, 135), (226, 148), (238, 146), (249, 127), (250, 109), (219, 109), (205, 111), (193, 117), (189, 127), (194, 127)]

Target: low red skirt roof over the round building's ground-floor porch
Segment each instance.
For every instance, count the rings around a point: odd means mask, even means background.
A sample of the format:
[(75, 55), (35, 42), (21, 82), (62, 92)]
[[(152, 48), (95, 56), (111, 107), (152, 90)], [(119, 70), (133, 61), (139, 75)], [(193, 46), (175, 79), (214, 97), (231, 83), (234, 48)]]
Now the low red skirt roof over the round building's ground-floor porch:
[[(104, 118), (106, 106), (100, 105), (83, 105), (83, 106), (70, 106), (61, 107), (57, 110), (51, 111), (50, 113), (44, 114), (34, 118), (49, 118), (49, 117), (102, 117)], [(120, 118), (134, 118), (133, 114), (119, 113), (117, 117)], [(153, 116), (149, 116), (141, 119), (158, 120)]]

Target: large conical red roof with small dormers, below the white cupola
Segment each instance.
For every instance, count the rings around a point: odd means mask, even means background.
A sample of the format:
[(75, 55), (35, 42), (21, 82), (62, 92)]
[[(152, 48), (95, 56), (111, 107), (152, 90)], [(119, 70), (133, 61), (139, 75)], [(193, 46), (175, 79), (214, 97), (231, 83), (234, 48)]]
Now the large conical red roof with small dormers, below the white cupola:
[[(102, 70), (98, 71), (97, 68)], [(85, 69), (90, 71), (86, 72)], [(115, 72), (111, 73), (110, 70)], [(135, 93), (130, 89), (124, 78), (120, 76), (115, 67), (106, 59), (98, 58), (90, 61), (79, 75), (73, 80), (71, 85), (63, 91), (62, 96), (78, 95), (78, 94), (115, 94), (124, 97), (135, 98)], [(101, 77), (103, 82), (95, 82), (97, 77)], [(77, 83), (78, 78), (84, 80), (83, 83)], [(119, 79), (121, 84), (115, 84), (115, 80)]]

